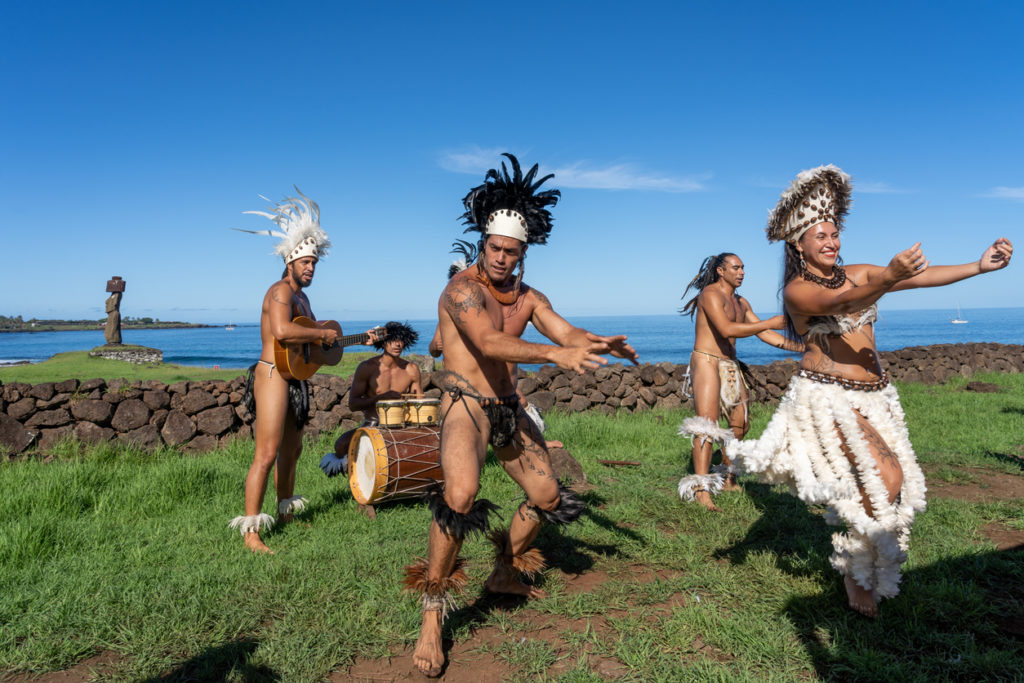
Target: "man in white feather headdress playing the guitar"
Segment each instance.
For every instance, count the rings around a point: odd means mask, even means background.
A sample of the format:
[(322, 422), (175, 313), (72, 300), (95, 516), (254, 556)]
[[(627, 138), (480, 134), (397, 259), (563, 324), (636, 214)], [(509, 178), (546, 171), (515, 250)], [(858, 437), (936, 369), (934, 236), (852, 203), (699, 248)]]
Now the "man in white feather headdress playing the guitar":
[[(331, 242), (321, 228), (319, 207), (299, 188), (299, 198), (288, 198), (270, 206), (270, 212), (246, 211), (272, 220), (278, 229), (243, 230), (252, 234), (281, 238), (274, 253), (285, 260), (285, 272), (263, 295), (259, 330), (262, 351), (259, 360), (249, 368), (243, 400), (256, 416), (253, 436), (256, 451), (246, 476), (245, 511), (228, 524), (237, 528), (246, 547), (254, 553), (272, 553), (260, 538), (260, 530), (273, 526), (274, 518), (261, 513), (266, 480), (273, 468), (278, 492), (278, 521), (290, 521), (292, 514), (305, 507), (306, 500), (295, 493), (295, 466), (302, 454), (302, 427), (309, 415), (309, 391), (304, 381), (285, 379), (274, 365), (274, 340), (285, 344), (319, 342), (331, 345), (338, 333), (330, 328), (306, 328), (293, 323), (304, 315), (313, 318), (309, 299), (303, 290), (312, 284), (321, 258), (327, 256)], [(265, 201), (266, 198), (261, 198)], [(370, 331), (370, 341), (376, 333)], [(370, 342), (368, 342), (370, 343)]]

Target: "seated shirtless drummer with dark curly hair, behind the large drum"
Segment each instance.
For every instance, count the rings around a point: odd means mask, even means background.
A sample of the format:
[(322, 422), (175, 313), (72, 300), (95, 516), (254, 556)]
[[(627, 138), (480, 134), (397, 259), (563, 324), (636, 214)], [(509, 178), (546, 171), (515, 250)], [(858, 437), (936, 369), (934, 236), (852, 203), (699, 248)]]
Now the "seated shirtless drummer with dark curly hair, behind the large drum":
[[(423, 395), (420, 367), (401, 357), (401, 352), (416, 343), (419, 333), (408, 325), (391, 321), (384, 326), (384, 336), (374, 342), (380, 355), (368, 358), (355, 369), (352, 387), (348, 391), (348, 408), (362, 411), (359, 427), (377, 426), (377, 401), (397, 399), (408, 394)], [(350, 429), (334, 442), (334, 453), (321, 460), (321, 469), (335, 476), (348, 469), (348, 445), (355, 429)]]

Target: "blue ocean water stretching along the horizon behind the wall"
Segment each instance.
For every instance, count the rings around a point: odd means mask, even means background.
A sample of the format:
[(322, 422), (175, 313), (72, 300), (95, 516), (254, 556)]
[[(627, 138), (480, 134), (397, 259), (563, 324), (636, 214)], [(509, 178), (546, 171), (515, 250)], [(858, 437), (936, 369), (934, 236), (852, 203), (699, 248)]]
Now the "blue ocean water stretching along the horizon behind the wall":
[[(768, 315), (770, 313), (765, 313)], [(955, 310), (883, 310), (876, 326), (879, 349), (959, 342), (1024, 343), (1024, 308), (964, 309), (966, 325), (949, 321)], [(602, 335), (625, 334), (640, 353), (641, 362), (687, 362), (693, 348), (693, 324), (681, 315), (609, 315), (569, 317), (573, 325)], [(342, 321), (346, 334), (362, 332), (381, 321)], [(426, 353), (434, 331), (434, 321), (409, 321), (420, 333), (420, 341), (411, 349)], [(188, 330), (126, 330), (126, 344), (159, 348), (165, 362), (204, 368), (245, 368), (259, 355), (259, 327), (237, 325)], [(527, 341), (545, 341), (532, 326), (526, 329)], [(41, 332), (0, 334), (0, 365), (20, 360), (38, 362), (54, 353), (88, 350), (103, 344), (101, 330), (84, 332)], [(351, 347), (349, 350), (364, 350)], [(740, 339), (739, 357), (749, 364), (763, 365), (791, 357), (757, 338)], [(793, 356), (795, 357), (795, 356)]]

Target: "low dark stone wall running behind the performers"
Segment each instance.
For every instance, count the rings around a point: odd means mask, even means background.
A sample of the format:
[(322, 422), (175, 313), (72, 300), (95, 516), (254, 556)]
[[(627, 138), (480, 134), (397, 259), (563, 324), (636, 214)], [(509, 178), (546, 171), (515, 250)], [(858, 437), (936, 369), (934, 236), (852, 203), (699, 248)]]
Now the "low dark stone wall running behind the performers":
[[(881, 353), (897, 380), (934, 384), (976, 372), (1024, 372), (1024, 346), (938, 344)], [(775, 402), (796, 370), (793, 360), (752, 366), (755, 400)], [(600, 411), (610, 414), (652, 408), (679, 408), (686, 366), (608, 365), (584, 375), (545, 366), (519, 380), (520, 391), (542, 412)], [(440, 390), (425, 374), (428, 396)], [(350, 380), (314, 375), (310, 380), (310, 418), (306, 433), (318, 436), (350, 429), (361, 415), (348, 410)], [(236, 437), (252, 435), (252, 416), (242, 405), (244, 378), (177, 382), (101, 379), (29, 385), (0, 385), (0, 453), (16, 455), (33, 444), (48, 450), (74, 437), (87, 443), (114, 441), (144, 449), (163, 444), (203, 452)]]

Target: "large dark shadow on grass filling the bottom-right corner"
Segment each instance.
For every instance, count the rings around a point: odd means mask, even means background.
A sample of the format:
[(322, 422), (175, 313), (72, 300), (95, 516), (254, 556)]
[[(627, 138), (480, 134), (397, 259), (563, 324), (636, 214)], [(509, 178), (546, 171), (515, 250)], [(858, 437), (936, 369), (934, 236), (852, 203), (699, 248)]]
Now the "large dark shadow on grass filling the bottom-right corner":
[[(912, 543), (912, 541), (911, 541)], [(877, 620), (847, 607), (838, 574), (783, 614), (824, 680), (1010, 681), (1024, 661), (1024, 550), (910, 569)]]

